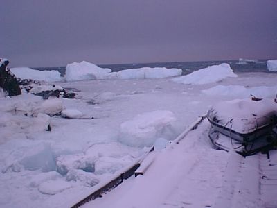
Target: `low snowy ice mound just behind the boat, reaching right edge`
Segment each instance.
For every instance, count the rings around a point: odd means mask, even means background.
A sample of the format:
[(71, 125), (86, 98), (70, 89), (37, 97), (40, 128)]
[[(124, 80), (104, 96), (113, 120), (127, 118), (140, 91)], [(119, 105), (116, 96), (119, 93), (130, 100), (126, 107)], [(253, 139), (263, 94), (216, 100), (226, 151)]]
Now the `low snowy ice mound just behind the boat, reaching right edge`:
[(276, 87), (244, 87), (241, 85), (217, 85), (209, 89), (202, 90), (208, 96), (229, 96), (234, 98), (248, 98), (251, 95), (258, 98), (274, 98), (277, 94)]

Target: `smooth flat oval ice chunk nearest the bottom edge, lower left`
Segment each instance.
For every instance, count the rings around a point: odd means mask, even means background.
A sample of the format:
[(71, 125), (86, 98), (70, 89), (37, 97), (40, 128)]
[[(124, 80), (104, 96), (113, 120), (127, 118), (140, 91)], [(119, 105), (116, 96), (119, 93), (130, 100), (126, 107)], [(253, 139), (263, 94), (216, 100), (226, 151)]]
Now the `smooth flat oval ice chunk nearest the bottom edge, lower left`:
[(71, 188), (69, 182), (63, 180), (49, 180), (40, 184), (38, 189), (40, 193), (55, 195), (69, 188)]

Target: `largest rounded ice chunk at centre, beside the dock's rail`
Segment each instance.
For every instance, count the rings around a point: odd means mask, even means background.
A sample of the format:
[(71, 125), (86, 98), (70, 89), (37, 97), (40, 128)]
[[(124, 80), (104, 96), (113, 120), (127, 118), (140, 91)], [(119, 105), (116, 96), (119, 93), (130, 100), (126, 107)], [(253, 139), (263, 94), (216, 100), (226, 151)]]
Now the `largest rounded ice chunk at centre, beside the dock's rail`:
[(120, 125), (118, 141), (135, 147), (152, 146), (159, 137), (172, 139), (175, 116), (170, 111), (147, 112)]

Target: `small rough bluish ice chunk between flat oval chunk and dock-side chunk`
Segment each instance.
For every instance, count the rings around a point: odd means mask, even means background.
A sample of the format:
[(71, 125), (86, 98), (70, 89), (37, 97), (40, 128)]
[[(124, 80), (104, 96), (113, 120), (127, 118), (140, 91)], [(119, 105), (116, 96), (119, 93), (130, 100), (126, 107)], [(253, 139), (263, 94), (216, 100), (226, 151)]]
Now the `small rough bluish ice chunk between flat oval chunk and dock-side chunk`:
[(98, 184), (99, 180), (93, 173), (82, 170), (71, 170), (66, 174), (67, 181), (80, 182), (85, 187), (93, 187)]

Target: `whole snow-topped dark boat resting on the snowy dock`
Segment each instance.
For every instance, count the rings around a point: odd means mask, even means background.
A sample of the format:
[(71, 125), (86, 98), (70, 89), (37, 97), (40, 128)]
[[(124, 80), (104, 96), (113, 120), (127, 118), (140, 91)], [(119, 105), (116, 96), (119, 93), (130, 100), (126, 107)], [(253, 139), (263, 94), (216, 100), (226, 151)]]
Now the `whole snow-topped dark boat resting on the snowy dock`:
[(277, 141), (277, 103), (272, 100), (233, 100), (208, 110), (209, 137), (222, 150), (241, 155), (269, 150)]

